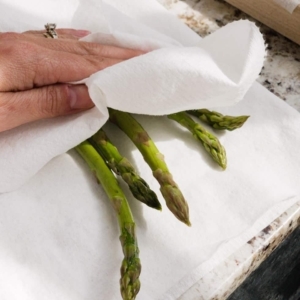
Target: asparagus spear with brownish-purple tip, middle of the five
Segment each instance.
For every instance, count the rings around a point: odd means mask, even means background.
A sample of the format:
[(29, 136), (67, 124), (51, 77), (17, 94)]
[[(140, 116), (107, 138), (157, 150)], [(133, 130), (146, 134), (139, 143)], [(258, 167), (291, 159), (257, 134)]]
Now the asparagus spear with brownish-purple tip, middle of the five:
[(160, 184), (160, 191), (167, 207), (180, 221), (191, 225), (189, 208), (172, 174), (152, 139), (144, 128), (128, 113), (109, 109), (109, 118), (132, 140), (150, 166), (153, 176)]

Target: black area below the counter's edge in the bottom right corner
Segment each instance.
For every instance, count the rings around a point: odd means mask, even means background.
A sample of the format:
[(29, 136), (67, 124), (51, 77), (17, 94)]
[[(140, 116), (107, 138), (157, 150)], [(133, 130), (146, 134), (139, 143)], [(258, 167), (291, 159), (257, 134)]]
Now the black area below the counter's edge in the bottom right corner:
[(300, 226), (249, 275), (228, 300), (300, 299)]

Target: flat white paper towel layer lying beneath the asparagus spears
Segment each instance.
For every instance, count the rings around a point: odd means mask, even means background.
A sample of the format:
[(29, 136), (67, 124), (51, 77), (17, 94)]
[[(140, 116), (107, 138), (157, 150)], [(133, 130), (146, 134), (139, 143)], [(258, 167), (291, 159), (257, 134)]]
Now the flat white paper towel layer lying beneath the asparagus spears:
[[(299, 113), (260, 85), (220, 110), (251, 115), (242, 129), (219, 134), (228, 153), (224, 172), (175, 123), (136, 116), (165, 154), (192, 222), (190, 228), (179, 223), (161, 197), (162, 212), (128, 197), (143, 266), (137, 299), (177, 299), (300, 200)], [(159, 195), (135, 147), (115, 127), (105, 129)], [(0, 205), (1, 299), (121, 299), (115, 214), (76, 153), (53, 159), (22, 188), (1, 195)]]

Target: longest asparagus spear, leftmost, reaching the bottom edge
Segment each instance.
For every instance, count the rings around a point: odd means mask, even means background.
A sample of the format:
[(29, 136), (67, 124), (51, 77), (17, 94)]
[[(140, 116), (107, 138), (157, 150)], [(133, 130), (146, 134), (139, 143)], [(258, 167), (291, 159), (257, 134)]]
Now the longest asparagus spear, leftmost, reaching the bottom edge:
[(102, 184), (117, 213), (121, 232), (120, 241), (124, 253), (120, 279), (121, 295), (124, 300), (134, 300), (140, 289), (141, 263), (135, 235), (135, 223), (127, 199), (113, 173), (88, 141), (79, 144), (75, 149)]

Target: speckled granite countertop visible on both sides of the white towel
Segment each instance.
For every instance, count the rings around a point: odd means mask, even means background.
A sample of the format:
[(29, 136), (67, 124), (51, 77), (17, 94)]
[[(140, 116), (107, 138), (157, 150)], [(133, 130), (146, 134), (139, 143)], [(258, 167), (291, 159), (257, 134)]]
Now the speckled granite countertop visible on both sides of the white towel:
[[(300, 112), (299, 45), (222, 0), (160, 2), (201, 37), (235, 20), (254, 21), (264, 35), (267, 48), (264, 67), (257, 81)], [(299, 224), (300, 203), (297, 203), (201, 278), (180, 300), (227, 299), (286, 237), (299, 228)]]

